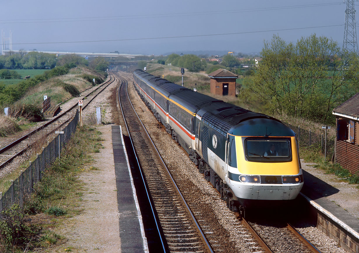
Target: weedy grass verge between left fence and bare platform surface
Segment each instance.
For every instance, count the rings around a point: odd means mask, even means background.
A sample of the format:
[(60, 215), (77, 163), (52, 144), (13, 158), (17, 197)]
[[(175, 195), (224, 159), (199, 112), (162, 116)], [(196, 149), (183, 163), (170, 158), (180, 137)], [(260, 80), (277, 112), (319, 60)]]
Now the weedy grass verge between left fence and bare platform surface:
[(78, 127), (63, 149), (60, 160), (48, 167), (24, 210), (14, 205), (0, 215), (0, 252), (37, 252), (64, 241), (52, 229), (65, 218), (81, 213), (83, 183), (78, 175), (96, 168), (90, 154), (101, 147), (100, 131)]

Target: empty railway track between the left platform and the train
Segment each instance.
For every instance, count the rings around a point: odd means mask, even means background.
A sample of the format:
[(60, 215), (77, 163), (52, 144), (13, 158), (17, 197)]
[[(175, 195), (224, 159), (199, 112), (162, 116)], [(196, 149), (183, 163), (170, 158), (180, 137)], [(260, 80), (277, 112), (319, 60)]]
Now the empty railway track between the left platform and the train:
[[(213, 252), (202, 229), (174, 182), (127, 94), (127, 82), (119, 89), (120, 103), (134, 149), (163, 233), (164, 251)], [(131, 109), (130, 109), (131, 108)]]

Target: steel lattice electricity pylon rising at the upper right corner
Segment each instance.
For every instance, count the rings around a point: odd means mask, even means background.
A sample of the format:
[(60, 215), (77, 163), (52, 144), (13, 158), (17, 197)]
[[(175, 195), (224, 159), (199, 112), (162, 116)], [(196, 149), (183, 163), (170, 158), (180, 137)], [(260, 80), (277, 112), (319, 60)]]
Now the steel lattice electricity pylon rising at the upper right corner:
[(343, 50), (358, 53), (354, 0), (346, 0)]

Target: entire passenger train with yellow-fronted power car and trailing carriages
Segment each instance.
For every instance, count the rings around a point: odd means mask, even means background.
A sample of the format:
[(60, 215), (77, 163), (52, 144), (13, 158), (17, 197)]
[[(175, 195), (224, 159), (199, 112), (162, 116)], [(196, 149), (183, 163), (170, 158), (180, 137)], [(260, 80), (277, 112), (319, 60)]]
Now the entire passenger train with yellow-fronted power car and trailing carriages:
[(135, 70), (140, 97), (238, 211), (283, 202), (303, 186), (295, 133), (279, 120)]

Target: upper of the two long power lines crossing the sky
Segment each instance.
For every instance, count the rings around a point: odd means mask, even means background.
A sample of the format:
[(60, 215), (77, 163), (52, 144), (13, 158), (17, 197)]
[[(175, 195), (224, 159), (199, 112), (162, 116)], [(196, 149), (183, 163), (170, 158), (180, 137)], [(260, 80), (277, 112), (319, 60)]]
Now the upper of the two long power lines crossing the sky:
[[(201, 15), (212, 15), (212, 14), (228, 14), (228, 13), (243, 13), (243, 12), (254, 12), (254, 11), (297, 9), (297, 8), (318, 7), (318, 6), (339, 5), (339, 4), (342, 4), (342, 2), (278, 6), (278, 7), (268, 7), (268, 8), (252, 8), (252, 9), (242, 9), (242, 10), (187, 12), (187, 13), (143, 14), (143, 15), (126, 15), (126, 16), (100, 16), (100, 17), (83, 17), (83, 18), (3, 19), (0, 21), (10, 21), (10, 22), (0, 22), (0, 24), (59, 23), (59, 22), (83, 22), (83, 21), (103, 21), (103, 20), (123, 20), (123, 19), (168, 18), (168, 17), (174, 17), (174, 16), (201, 16)], [(83, 19), (83, 20), (69, 20), (69, 19)], [(44, 20), (44, 21), (40, 21), (40, 20)], [(13, 22), (13, 21), (19, 21), (19, 22)]]

